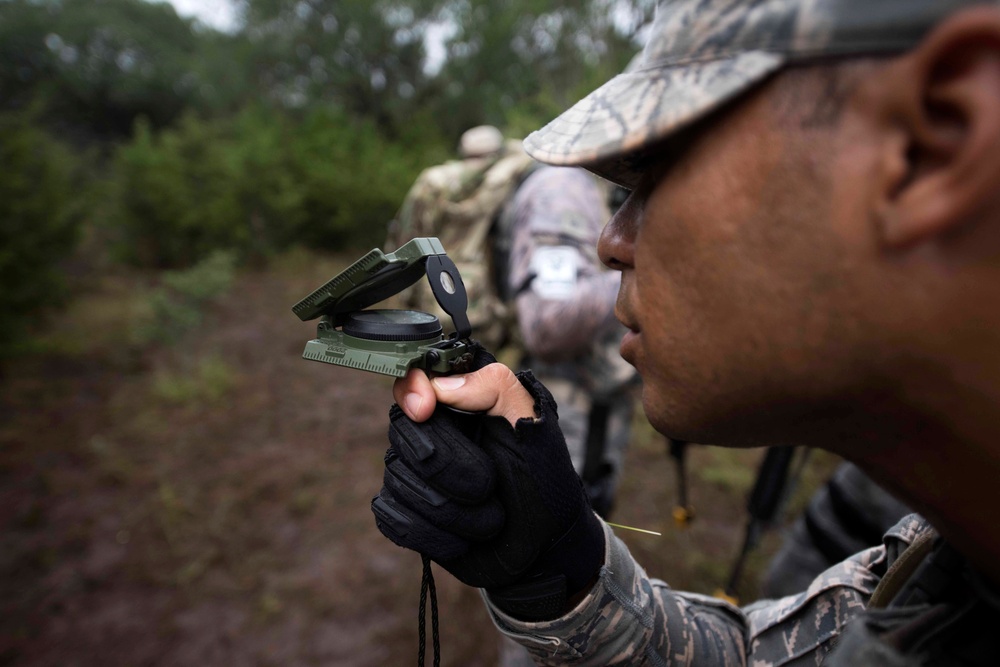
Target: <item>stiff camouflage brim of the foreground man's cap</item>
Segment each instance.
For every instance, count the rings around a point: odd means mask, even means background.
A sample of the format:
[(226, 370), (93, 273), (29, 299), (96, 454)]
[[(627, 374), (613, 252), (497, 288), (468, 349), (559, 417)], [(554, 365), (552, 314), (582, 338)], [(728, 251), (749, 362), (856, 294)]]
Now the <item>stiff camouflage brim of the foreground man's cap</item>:
[(648, 67), (619, 74), (524, 140), (539, 162), (581, 166), (627, 188), (628, 156), (701, 118), (785, 63), (778, 53)]

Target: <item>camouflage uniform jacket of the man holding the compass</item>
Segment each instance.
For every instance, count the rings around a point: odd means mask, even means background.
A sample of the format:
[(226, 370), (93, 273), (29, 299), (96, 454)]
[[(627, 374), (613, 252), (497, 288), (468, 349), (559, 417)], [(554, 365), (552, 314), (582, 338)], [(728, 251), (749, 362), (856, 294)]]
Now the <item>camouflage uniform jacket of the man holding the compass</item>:
[[(948, 595), (956, 601), (863, 614), (889, 568), (903, 562), (901, 555), (907, 547), (934, 539), (930, 525), (915, 514), (890, 529), (882, 545), (831, 567), (802, 593), (742, 609), (713, 597), (674, 591), (649, 578), (611, 529), (606, 527), (605, 533), (607, 555), (599, 581), (566, 616), (526, 623), (505, 615), (483, 596), (500, 631), (525, 646), (536, 664), (997, 664), (996, 650), (986, 640), (991, 636), (987, 628), (1000, 621), (1000, 608), (995, 594), (970, 581), (972, 573), (967, 569), (959, 568), (946, 583)], [(908, 626), (918, 635), (910, 641), (927, 642), (925, 651), (932, 661), (903, 658), (884, 642), (875, 641), (871, 629), (881, 633), (892, 628), (904, 634), (900, 628)]]

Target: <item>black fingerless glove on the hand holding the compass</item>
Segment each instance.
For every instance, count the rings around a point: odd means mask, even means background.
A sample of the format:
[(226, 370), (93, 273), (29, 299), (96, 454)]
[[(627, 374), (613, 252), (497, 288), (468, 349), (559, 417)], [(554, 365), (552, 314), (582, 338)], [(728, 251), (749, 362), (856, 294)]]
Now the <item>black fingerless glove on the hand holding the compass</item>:
[(423, 423), (389, 412), (379, 530), (429, 556), (464, 583), (485, 588), (523, 620), (560, 616), (604, 562), (604, 531), (559, 430), (555, 403), (530, 372), (518, 375), (538, 419), (439, 406)]

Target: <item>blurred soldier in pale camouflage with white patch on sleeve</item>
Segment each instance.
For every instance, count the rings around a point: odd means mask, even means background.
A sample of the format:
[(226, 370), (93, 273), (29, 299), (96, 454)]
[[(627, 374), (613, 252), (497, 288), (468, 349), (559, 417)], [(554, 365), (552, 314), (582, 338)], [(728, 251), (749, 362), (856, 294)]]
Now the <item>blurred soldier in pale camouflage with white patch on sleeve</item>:
[(582, 169), (541, 167), (518, 188), (499, 223), (497, 257), (507, 267), (524, 349), (559, 405), (559, 424), (591, 505), (607, 517), (632, 420), (635, 369), (618, 353), (619, 276), (597, 257), (610, 217), (608, 192)]

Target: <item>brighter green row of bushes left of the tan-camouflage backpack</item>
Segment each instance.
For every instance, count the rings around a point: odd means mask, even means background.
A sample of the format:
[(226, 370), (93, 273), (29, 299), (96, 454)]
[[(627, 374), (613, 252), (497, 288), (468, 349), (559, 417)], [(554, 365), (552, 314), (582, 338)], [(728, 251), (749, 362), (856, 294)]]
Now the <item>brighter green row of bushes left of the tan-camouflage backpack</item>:
[(188, 115), (158, 135), (140, 124), (112, 179), (117, 254), (178, 267), (219, 249), (246, 258), (381, 245), (413, 179), (440, 153), (433, 139), (404, 146), (332, 109)]

